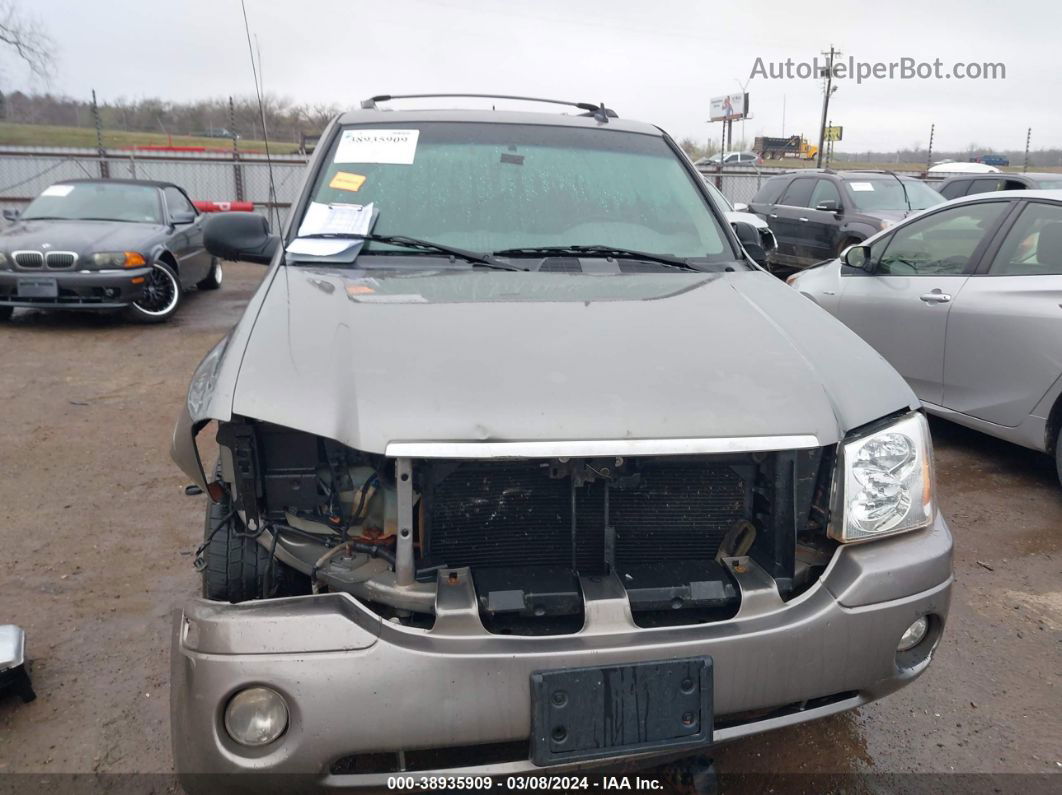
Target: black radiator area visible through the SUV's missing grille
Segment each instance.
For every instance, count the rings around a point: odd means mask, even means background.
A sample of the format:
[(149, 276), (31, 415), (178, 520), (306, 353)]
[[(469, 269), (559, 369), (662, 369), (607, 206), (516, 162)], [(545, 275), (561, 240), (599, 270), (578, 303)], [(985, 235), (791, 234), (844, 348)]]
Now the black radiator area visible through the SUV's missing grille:
[(480, 618), (496, 634), (579, 632), (579, 577), (610, 571), (641, 626), (724, 620), (740, 597), (716, 555), (737, 525), (771, 533), (774, 463), (773, 454), (426, 462), (425, 557), (472, 568)]

